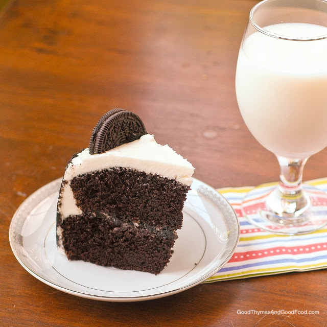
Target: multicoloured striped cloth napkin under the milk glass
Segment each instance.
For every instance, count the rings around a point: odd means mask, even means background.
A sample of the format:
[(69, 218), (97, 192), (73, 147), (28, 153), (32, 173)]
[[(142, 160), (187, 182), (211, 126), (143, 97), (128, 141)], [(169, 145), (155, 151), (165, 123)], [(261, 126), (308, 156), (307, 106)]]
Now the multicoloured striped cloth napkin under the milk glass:
[[(327, 192), (327, 178), (307, 183)], [(241, 211), (242, 199), (250, 190), (250, 186), (217, 190), (239, 218), (240, 242), (227, 264), (205, 283), (326, 268), (327, 226), (297, 236), (276, 235), (255, 227)]]

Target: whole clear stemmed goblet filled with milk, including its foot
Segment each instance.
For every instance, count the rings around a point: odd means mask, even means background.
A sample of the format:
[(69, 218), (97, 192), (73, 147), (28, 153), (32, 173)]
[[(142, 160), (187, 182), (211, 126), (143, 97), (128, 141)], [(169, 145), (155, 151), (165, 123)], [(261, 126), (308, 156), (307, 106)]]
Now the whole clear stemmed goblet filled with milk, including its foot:
[(254, 6), (236, 70), (244, 122), (281, 167), (279, 184), (245, 197), (252, 224), (288, 235), (327, 223), (327, 195), (302, 184), (307, 159), (327, 146), (327, 1), (264, 0)]

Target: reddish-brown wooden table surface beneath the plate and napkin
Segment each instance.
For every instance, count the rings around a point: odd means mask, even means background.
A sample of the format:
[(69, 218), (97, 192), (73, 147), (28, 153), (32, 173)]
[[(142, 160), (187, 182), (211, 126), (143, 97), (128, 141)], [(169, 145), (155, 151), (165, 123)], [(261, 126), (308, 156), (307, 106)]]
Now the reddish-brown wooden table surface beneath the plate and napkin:
[[(39, 282), (15, 259), (19, 204), (61, 177), (109, 109), (138, 113), (148, 132), (215, 188), (277, 179), (274, 156), (236, 102), (238, 49), (251, 0), (16, 0), (0, 17), (0, 325), (327, 325), (327, 272), (201, 284), (146, 302), (84, 299)], [(305, 180), (327, 176), (327, 151)], [(319, 310), (240, 315), (238, 310)]]

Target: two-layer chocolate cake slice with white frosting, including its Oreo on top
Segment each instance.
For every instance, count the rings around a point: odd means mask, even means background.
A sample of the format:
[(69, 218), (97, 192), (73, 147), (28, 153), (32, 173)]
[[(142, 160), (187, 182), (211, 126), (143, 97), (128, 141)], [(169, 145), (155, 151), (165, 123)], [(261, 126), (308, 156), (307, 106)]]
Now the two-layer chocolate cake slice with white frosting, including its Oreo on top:
[(57, 245), (69, 260), (158, 274), (171, 258), (194, 168), (155, 142), (139, 117), (114, 109), (68, 162)]

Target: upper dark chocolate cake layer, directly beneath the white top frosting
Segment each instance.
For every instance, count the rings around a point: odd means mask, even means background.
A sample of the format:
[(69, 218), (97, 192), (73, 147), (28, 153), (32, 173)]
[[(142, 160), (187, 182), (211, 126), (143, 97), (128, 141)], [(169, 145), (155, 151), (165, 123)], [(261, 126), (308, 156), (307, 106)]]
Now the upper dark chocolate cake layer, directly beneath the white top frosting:
[(190, 189), (173, 179), (121, 167), (78, 175), (71, 188), (83, 213), (92, 208), (126, 221), (172, 229), (182, 226), (182, 208)]

